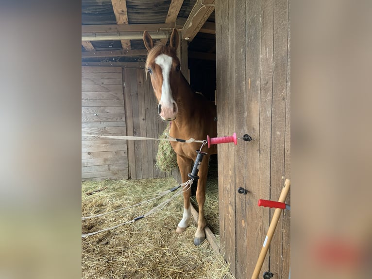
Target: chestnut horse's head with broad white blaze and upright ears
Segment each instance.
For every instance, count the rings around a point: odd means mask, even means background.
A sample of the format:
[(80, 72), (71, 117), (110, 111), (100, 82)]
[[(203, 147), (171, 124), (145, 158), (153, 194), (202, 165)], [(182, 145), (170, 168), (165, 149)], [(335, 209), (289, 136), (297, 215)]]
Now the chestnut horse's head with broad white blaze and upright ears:
[(176, 55), (179, 44), (178, 32), (173, 29), (169, 46), (162, 43), (154, 45), (152, 37), (147, 31), (143, 33), (143, 42), (149, 51), (146, 70), (150, 73), (152, 87), (159, 102), (159, 115), (165, 121), (173, 120), (178, 112), (178, 106), (174, 99), (177, 100), (178, 85), (182, 77), (180, 60)]

